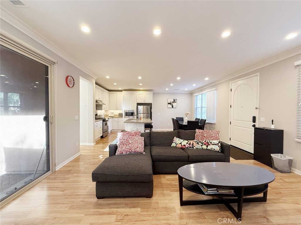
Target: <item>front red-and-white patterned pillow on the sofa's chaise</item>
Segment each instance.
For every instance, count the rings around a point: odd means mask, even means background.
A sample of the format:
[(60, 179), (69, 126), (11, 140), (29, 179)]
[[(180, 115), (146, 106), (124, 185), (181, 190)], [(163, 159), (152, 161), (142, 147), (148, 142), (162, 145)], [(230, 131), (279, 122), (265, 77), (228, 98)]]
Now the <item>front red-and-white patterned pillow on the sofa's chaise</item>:
[(116, 155), (144, 153), (144, 137), (121, 137)]

